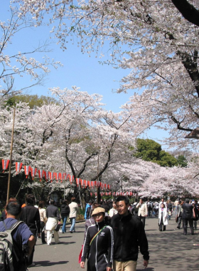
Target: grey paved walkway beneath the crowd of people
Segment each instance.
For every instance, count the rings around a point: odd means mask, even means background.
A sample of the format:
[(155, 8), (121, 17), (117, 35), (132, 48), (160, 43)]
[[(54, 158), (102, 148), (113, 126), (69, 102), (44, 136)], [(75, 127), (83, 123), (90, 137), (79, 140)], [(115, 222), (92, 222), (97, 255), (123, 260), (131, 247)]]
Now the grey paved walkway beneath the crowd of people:
[[(146, 218), (146, 235), (149, 241), (150, 260), (146, 271), (198, 271), (199, 270), (199, 230), (195, 235), (183, 235), (176, 228), (175, 218), (171, 217), (165, 232), (158, 231), (158, 219)], [(199, 222), (198, 222), (199, 227)], [(84, 223), (76, 224), (76, 232), (60, 233), (60, 244), (43, 245), (39, 239), (36, 245), (34, 261), (36, 267), (31, 271), (82, 270), (78, 264), (78, 255), (84, 237)], [(144, 270), (142, 255), (139, 254), (137, 271)]]

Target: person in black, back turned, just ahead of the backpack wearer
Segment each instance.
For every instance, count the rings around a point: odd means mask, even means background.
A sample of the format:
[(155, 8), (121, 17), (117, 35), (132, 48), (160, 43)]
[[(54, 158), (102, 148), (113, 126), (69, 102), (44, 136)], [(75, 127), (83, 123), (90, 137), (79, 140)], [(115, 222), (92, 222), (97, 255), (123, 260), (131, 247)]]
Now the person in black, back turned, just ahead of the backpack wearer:
[[(31, 232), (33, 232), (36, 241), (37, 237), (41, 237), (41, 220), (38, 208), (34, 207), (35, 202), (36, 200), (34, 195), (26, 195), (26, 206), (21, 209), (20, 220), (28, 225)], [(28, 256), (28, 267), (36, 265), (35, 262), (33, 262), (34, 251), (35, 245), (33, 246), (31, 255)]]

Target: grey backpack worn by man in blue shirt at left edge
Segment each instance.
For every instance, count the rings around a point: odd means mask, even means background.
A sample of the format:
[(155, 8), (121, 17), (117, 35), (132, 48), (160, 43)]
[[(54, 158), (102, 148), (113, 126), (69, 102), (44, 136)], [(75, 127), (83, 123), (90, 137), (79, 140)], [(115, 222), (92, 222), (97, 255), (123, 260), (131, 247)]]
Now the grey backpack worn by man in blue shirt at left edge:
[[(14, 225), (11, 225), (9, 229), (7, 229), (6, 224), (4, 223), (6, 230), (4, 232), (0, 232), (0, 271), (14, 271), (14, 246), (11, 232), (15, 230), (21, 223), (23, 223), (23, 221), (17, 221), (14, 223)], [(16, 252), (14, 252), (14, 254), (16, 255)], [(17, 256), (16, 260), (18, 260)]]

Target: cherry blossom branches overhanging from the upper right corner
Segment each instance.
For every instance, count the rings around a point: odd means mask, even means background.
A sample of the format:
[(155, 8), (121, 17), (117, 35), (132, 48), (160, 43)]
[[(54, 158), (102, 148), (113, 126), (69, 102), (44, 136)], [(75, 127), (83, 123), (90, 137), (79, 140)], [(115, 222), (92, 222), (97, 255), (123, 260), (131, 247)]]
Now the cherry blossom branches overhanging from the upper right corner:
[(185, 4), (186, 14), (197, 14), (198, 1), (191, 6), (185, 0), (16, 2), (21, 15), (30, 11), (37, 25), (50, 15), (63, 49), (70, 35), (79, 37), (87, 53), (101, 52), (109, 44), (107, 63), (131, 69), (118, 91), (143, 91), (128, 107), (138, 133), (158, 123), (158, 128), (171, 131), (173, 146), (184, 143), (184, 136), (198, 126), (198, 24), (192, 24), (190, 16), (184, 19), (181, 9)]

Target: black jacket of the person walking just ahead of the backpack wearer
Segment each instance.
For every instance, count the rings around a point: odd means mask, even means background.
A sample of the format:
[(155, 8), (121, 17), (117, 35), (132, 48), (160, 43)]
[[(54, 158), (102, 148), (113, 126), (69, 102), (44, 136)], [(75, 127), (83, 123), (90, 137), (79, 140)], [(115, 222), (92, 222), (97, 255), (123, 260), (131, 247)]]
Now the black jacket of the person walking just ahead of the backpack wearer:
[(38, 208), (33, 205), (26, 205), (21, 209), (21, 217), (20, 220), (25, 222), (33, 235), (36, 235), (36, 232), (41, 233), (41, 223), (40, 223), (40, 215)]

